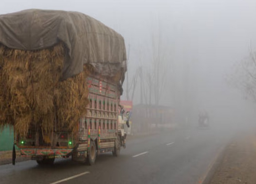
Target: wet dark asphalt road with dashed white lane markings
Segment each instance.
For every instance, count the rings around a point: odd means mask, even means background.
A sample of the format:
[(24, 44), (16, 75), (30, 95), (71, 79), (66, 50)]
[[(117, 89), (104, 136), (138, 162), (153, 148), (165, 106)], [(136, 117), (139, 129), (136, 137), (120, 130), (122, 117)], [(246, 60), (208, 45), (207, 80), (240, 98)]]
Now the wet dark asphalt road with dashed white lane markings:
[(102, 154), (93, 166), (57, 159), (51, 167), (29, 160), (0, 166), (0, 183), (202, 183), (231, 139), (223, 129), (179, 129), (127, 140), (119, 157)]

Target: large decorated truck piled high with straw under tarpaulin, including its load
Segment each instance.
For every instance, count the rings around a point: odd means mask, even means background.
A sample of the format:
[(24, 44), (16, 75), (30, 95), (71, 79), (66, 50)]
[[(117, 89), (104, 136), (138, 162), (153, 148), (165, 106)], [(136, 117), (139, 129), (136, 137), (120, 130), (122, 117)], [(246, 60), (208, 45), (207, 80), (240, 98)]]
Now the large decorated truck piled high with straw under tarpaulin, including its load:
[(0, 128), (11, 125), (21, 156), (38, 164), (119, 154), (125, 72), (123, 37), (90, 16), (0, 15)]

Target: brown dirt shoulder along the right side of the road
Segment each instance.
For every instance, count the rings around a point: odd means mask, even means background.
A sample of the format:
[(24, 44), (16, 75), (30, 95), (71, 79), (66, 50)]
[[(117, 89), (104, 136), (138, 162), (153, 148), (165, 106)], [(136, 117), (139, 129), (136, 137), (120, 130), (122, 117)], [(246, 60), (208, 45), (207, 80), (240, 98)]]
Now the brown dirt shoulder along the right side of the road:
[(256, 134), (240, 134), (225, 148), (209, 184), (253, 184), (256, 181)]

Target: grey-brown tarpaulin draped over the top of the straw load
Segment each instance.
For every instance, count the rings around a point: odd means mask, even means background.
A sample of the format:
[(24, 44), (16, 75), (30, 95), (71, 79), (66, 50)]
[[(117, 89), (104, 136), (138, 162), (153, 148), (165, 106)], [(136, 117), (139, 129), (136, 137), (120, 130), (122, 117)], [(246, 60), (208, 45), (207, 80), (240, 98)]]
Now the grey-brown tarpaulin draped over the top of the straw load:
[(63, 79), (83, 71), (90, 63), (102, 76), (126, 71), (123, 37), (98, 20), (79, 12), (24, 10), (0, 15), (0, 43), (23, 50), (49, 48), (60, 41), (68, 48)]

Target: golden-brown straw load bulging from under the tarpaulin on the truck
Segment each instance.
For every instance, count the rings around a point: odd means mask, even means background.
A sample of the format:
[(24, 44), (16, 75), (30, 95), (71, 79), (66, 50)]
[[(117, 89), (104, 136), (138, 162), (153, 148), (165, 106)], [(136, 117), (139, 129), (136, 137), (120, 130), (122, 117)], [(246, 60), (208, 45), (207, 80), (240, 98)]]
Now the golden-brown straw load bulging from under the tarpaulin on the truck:
[(84, 72), (61, 81), (65, 46), (28, 51), (0, 45), (0, 127), (15, 125), (25, 136), (29, 127), (43, 135), (56, 128), (74, 131), (86, 113), (88, 89)]

